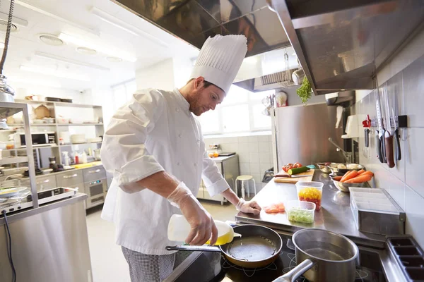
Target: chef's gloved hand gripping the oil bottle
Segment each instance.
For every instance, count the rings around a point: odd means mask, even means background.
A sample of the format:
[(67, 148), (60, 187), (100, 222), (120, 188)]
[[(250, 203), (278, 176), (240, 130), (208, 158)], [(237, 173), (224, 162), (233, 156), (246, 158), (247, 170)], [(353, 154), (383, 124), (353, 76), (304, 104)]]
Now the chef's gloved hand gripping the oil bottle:
[(216, 243), (218, 229), (213, 222), (211, 214), (201, 206), (192, 191), (183, 182), (179, 183), (177, 188), (167, 197), (167, 200), (173, 206), (181, 209), (182, 215), (192, 227), (184, 243), (203, 245), (209, 239), (211, 239), (211, 245)]

